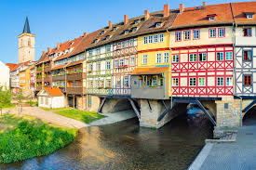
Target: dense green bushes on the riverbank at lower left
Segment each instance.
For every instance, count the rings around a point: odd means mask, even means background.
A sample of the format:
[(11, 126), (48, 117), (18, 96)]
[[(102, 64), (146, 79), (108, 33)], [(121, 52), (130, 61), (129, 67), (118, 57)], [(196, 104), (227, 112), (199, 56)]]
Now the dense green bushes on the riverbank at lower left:
[(22, 121), (15, 129), (0, 134), (0, 163), (13, 163), (47, 155), (74, 140), (76, 130)]

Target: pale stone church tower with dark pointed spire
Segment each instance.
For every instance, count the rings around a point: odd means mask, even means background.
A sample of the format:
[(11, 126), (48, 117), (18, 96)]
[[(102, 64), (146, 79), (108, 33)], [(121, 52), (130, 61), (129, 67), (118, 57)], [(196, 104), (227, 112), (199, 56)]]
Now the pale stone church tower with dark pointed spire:
[(19, 63), (28, 60), (34, 61), (34, 37), (30, 32), (28, 17), (26, 18), (23, 33), (19, 36)]

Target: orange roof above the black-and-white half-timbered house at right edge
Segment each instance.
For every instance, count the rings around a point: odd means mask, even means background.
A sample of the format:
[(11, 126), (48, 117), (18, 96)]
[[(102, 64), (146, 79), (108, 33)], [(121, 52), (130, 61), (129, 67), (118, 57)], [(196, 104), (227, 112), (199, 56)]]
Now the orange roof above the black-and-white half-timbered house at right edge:
[[(231, 4), (236, 24), (255, 24), (256, 23), (256, 2), (241, 2)], [(247, 19), (246, 14), (253, 14), (253, 19)]]

